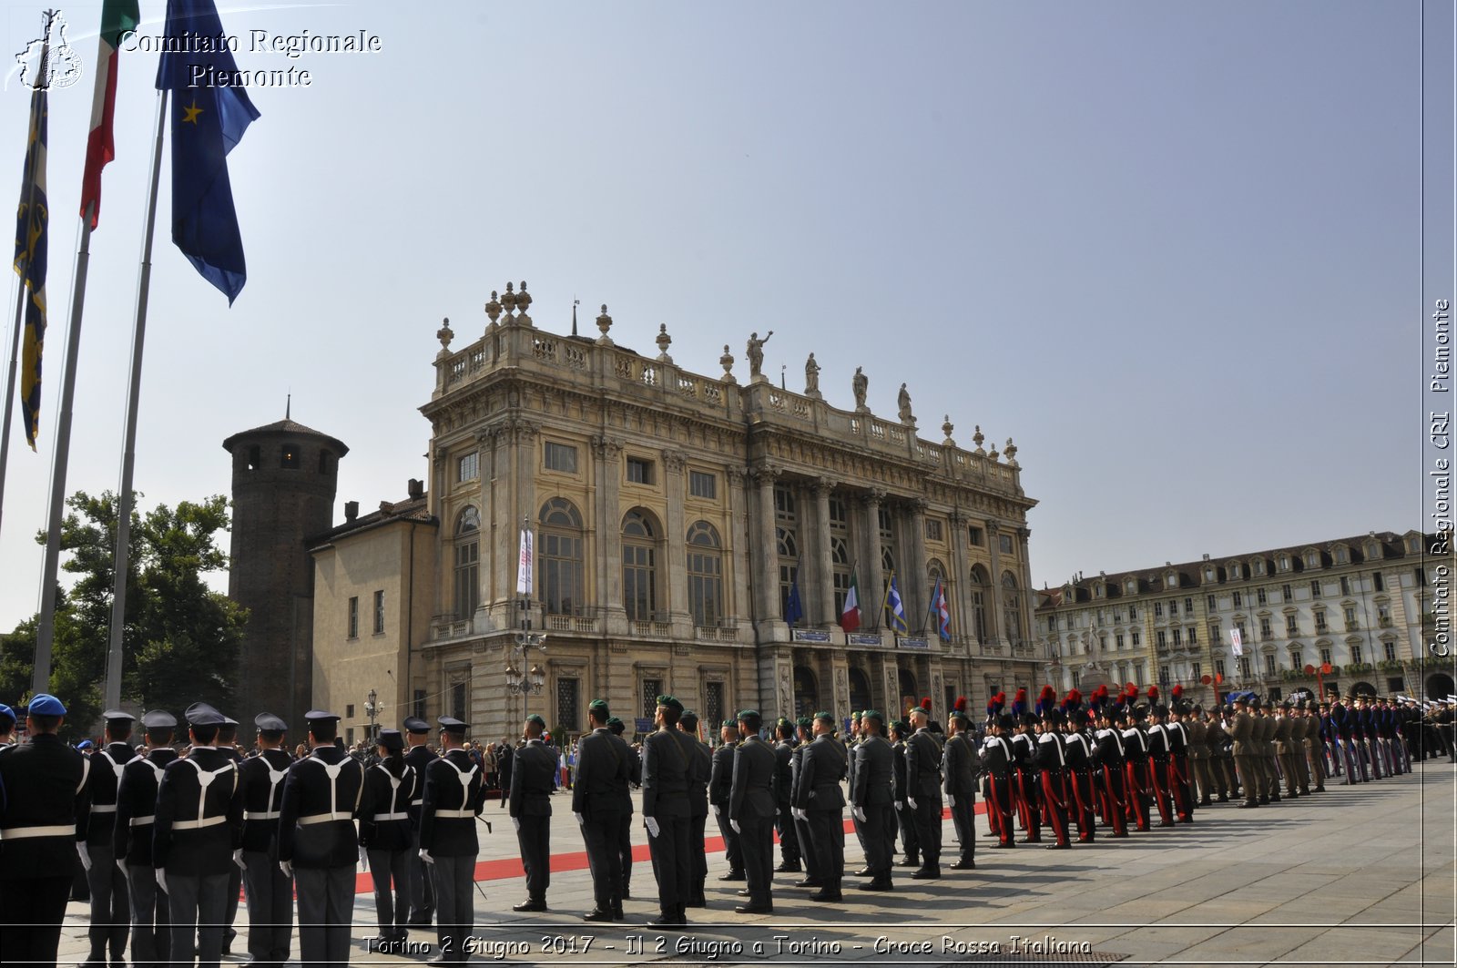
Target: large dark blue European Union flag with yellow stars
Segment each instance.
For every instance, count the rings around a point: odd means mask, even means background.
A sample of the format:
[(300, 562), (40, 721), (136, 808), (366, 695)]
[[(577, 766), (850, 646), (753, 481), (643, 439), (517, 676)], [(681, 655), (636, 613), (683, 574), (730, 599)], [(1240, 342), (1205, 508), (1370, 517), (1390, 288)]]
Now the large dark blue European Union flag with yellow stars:
[(229, 86), (237, 63), (213, 0), (168, 0), (157, 90), (172, 114), (172, 241), (232, 306), (248, 280), (243, 236), (227, 179), (227, 153), (258, 109)]

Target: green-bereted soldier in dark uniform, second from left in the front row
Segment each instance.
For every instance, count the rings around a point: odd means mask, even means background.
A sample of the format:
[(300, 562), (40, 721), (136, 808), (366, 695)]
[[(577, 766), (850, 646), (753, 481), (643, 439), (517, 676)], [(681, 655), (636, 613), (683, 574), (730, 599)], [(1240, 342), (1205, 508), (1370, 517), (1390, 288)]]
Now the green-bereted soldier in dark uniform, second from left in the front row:
[[(592, 911), (584, 921), (621, 921), (622, 856), (618, 851), (622, 802), (628, 799), (631, 749), (608, 729), (612, 711), (603, 700), (587, 704), (592, 732), (577, 743), (577, 778), (571, 784), (571, 812), (581, 830), (592, 873)], [(628, 806), (631, 812), (631, 805)]]

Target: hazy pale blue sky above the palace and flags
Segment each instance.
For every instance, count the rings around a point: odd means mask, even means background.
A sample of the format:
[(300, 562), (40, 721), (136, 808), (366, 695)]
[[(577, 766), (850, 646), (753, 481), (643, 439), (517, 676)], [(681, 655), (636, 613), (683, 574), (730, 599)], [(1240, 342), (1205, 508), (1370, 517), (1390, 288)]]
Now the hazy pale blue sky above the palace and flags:
[[(39, 28), (9, 3), (4, 51)], [(143, 0), (160, 32), (165, 4)], [(99, 3), (66, 4), (95, 63)], [(685, 369), (774, 329), (851, 407), (1020, 448), (1040, 588), (1421, 526), (1419, 7), (1285, 3), (223, 4), (254, 90), (232, 155), (248, 286), (229, 309), (169, 239), (163, 169), (137, 449), (143, 504), (227, 493), (227, 434), (338, 436), (339, 506), (427, 477), (449, 316), (527, 280), (565, 331)], [(377, 54), (249, 51), (249, 31)], [(115, 488), (156, 54), (124, 52), (68, 491)], [(26, 92), (0, 96), (19, 187)], [(90, 77), (52, 95), (41, 453), (13, 443), (0, 627), (39, 602)], [(1428, 133), (1432, 137), (1432, 133)], [(1450, 137), (1450, 131), (1441, 134)], [(3, 181), (0, 181), (3, 184)], [(13, 305), (13, 290), (12, 303)], [(6, 322), (9, 347), (9, 321)], [(1412, 443), (1407, 443), (1410, 440)], [(341, 513), (341, 512), (339, 512)]]

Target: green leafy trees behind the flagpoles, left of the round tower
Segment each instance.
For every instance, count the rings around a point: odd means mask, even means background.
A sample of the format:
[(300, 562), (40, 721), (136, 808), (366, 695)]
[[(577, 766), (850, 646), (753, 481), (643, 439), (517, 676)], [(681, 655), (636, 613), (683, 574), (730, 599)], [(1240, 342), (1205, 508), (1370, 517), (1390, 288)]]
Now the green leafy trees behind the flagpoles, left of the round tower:
[[(106, 675), (117, 496), (77, 491), (61, 525), (61, 567), (76, 576), (57, 593), (51, 691), (67, 704), (73, 738), (101, 713)], [(122, 700), (181, 713), (195, 701), (224, 709), (233, 698), (246, 611), (204, 583), (227, 567), (217, 544), (227, 531), (227, 499), (133, 510), (122, 627)], [(45, 534), (36, 539), (44, 544)], [(39, 617), (20, 622), (0, 646), (0, 694), (29, 691)]]

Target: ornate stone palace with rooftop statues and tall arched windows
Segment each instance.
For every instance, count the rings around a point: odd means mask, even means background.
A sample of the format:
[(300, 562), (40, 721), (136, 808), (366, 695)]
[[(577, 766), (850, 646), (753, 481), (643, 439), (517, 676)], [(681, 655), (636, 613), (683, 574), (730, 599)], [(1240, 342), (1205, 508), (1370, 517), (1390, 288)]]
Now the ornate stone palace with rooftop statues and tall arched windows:
[[(476, 738), (514, 736), (525, 711), (552, 730), (586, 727), (606, 698), (629, 732), (672, 692), (717, 722), (743, 707), (766, 719), (819, 709), (898, 710), (931, 697), (1032, 687), (1034, 643), (1027, 510), (1016, 446), (1005, 453), (916, 436), (900, 417), (854, 410), (761, 375), (680, 369), (610, 337), (552, 335), (530, 296), (491, 293), (481, 338), (437, 334), (430, 480), (398, 504), (318, 536), (315, 700), (369, 727), (364, 697), (390, 725), (453, 714)], [(576, 331), (576, 321), (573, 324)], [(766, 340), (768, 337), (765, 337)], [(535, 554), (529, 605), (517, 592), (522, 531)], [(864, 624), (838, 620), (855, 574)], [(909, 633), (880, 614), (890, 574)], [(930, 621), (937, 582), (949, 640)], [(791, 590), (803, 618), (793, 625)], [(545, 649), (522, 628), (545, 633)], [(520, 682), (525, 681), (525, 685)], [(533, 685), (535, 681), (535, 685)], [(393, 709), (392, 709), (393, 707)], [(361, 711), (364, 710), (364, 711)], [(638, 720), (634, 723), (634, 720)]]

